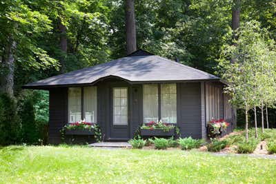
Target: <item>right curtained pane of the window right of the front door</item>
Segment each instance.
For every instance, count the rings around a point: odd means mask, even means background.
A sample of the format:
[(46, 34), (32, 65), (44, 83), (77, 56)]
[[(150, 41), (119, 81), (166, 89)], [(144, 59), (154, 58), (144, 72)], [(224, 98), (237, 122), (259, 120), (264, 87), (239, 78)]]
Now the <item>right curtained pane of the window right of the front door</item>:
[(175, 83), (161, 84), (161, 119), (177, 123), (177, 88)]

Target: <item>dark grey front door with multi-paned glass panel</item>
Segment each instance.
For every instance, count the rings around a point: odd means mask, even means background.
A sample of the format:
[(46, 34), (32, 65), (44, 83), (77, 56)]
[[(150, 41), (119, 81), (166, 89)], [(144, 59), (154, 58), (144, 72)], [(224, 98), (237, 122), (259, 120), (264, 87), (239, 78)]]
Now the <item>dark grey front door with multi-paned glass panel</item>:
[(112, 88), (110, 111), (110, 140), (129, 139), (127, 87)]

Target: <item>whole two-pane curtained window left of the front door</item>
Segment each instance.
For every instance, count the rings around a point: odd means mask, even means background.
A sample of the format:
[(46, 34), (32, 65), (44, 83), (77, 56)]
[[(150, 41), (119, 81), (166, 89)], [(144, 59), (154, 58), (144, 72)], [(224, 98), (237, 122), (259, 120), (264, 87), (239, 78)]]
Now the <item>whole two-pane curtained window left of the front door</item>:
[(97, 87), (68, 88), (68, 121), (97, 123)]

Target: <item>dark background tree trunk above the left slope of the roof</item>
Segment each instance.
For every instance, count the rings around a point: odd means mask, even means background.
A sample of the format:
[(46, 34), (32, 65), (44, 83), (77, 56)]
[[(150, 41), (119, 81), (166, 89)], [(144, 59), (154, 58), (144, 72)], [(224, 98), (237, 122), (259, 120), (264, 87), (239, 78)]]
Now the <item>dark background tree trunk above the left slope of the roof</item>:
[(63, 23), (61, 22), (61, 19), (59, 19), (58, 21), (59, 23), (59, 31), (60, 31), (60, 46), (61, 46), (61, 50), (63, 51), (63, 54), (61, 56), (61, 73), (64, 73), (66, 71), (66, 65), (65, 65), (65, 61), (66, 61), (66, 54), (67, 54), (67, 36), (66, 36), (66, 26), (63, 25)]

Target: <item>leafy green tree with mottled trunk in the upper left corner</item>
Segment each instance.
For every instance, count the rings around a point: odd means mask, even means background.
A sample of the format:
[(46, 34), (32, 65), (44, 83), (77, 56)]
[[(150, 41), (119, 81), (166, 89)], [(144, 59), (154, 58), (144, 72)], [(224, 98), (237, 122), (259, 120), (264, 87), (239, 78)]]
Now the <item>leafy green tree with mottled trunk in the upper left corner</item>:
[(56, 60), (37, 44), (42, 33), (51, 30), (51, 21), (45, 14), (32, 10), (29, 2), (0, 1), (0, 92), (10, 96), (14, 94), (16, 63), (21, 63), (21, 70), (57, 66)]

